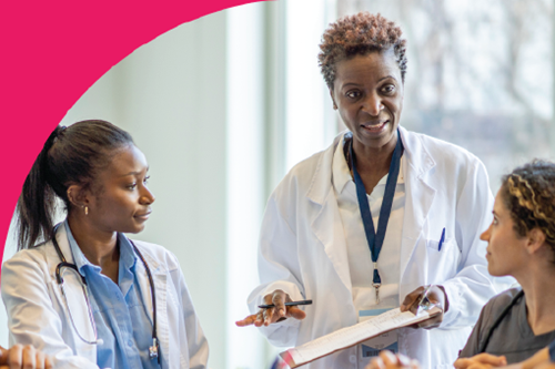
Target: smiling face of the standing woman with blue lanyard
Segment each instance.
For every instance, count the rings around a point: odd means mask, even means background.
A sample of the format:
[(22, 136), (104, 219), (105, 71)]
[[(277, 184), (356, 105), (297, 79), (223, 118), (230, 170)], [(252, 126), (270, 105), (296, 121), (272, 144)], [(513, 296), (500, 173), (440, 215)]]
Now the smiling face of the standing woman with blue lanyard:
[(395, 137), (403, 82), (393, 48), (340, 61), (330, 93), (357, 142), (381, 148)]

